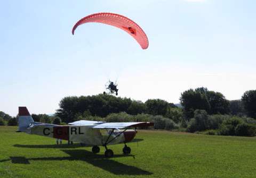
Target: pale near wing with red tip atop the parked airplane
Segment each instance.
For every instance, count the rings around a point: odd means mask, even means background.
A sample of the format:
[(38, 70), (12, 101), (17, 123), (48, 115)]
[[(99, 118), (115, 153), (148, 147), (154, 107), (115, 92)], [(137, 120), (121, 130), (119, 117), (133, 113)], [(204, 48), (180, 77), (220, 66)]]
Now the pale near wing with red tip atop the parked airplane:
[(135, 128), (135, 127), (147, 127), (153, 126), (154, 123), (150, 122), (107, 122), (93, 126), (93, 129), (124, 129), (124, 128)]

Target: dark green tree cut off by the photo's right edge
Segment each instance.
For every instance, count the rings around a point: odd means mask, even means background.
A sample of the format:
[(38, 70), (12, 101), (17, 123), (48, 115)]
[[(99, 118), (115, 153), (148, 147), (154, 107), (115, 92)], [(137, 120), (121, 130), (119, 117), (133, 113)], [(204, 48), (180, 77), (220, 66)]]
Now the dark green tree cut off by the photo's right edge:
[(256, 118), (256, 90), (245, 91), (242, 101), (247, 115)]

